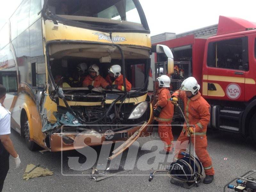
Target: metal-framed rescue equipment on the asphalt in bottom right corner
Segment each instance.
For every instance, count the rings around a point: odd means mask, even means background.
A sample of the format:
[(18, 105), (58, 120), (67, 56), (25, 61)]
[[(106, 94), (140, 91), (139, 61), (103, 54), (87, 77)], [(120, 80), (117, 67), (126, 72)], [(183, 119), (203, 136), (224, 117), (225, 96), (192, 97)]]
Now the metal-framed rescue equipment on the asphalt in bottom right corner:
[[(252, 177), (256, 171), (251, 170), (245, 173), (242, 177), (237, 177), (236, 179), (228, 182), (224, 187), (224, 192), (226, 189), (233, 189), (232, 191), (238, 192), (256, 192), (256, 179)], [(236, 185), (232, 185), (231, 183), (236, 180)]]

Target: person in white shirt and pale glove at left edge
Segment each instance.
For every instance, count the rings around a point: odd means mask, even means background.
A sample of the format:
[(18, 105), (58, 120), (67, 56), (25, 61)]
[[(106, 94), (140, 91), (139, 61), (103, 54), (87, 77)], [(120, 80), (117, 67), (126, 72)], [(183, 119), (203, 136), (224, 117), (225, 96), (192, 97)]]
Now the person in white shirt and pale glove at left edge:
[(4, 180), (9, 170), (9, 156), (14, 158), (16, 168), (20, 166), (20, 158), (15, 151), (11, 134), (11, 113), (3, 107), (6, 89), (0, 84), (0, 192), (3, 190)]

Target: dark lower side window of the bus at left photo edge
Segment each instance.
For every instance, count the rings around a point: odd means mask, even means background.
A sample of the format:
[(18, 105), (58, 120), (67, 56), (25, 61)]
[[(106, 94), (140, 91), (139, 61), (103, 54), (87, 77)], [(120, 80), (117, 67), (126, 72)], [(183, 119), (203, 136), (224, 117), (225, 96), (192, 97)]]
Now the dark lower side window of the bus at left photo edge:
[(15, 65), (0, 71), (0, 84), (6, 88), (6, 92), (17, 92), (17, 75)]

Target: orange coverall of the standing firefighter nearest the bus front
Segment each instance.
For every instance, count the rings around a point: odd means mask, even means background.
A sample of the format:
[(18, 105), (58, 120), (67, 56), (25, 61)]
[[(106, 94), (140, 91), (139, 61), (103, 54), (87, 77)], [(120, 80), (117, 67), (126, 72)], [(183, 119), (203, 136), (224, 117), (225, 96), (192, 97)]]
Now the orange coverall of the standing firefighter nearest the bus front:
[(173, 117), (173, 104), (170, 101), (171, 94), (168, 88), (161, 88), (158, 90), (158, 101), (155, 107), (163, 107), (159, 117), (154, 117), (158, 121), (158, 134), (163, 142), (164, 149), (169, 152), (172, 150), (172, 117)]

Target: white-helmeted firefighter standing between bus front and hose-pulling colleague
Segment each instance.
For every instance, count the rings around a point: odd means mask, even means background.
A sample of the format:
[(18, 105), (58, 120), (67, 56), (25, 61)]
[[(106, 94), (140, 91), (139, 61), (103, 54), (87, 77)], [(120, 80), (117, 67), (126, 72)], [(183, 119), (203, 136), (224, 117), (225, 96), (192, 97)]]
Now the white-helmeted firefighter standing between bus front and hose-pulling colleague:
[(154, 107), (154, 119), (158, 121), (158, 134), (161, 140), (165, 143), (164, 150), (160, 154), (172, 153), (173, 135), (172, 135), (172, 117), (173, 104), (171, 102), (171, 94), (169, 91), (170, 78), (167, 75), (162, 75), (157, 78), (159, 83), (158, 101)]

